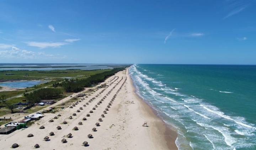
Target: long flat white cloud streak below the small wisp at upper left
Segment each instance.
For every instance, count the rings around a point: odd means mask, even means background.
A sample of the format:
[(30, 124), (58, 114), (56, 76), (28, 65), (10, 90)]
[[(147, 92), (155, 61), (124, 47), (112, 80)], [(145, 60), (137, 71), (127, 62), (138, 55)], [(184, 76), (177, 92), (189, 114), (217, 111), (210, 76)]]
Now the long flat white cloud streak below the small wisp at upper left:
[(47, 47), (60, 47), (63, 45), (67, 45), (66, 42), (25, 42), (28, 46), (34, 46), (39, 48), (47, 48)]

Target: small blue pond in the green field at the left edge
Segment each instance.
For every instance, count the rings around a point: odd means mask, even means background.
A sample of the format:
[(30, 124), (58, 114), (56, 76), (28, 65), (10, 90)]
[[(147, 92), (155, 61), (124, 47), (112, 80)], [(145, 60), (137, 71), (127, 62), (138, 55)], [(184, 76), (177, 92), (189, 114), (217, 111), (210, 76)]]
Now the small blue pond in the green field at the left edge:
[(6, 86), (10, 88), (26, 88), (32, 87), (34, 85), (39, 85), (42, 83), (49, 82), (47, 80), (32, 80), (32, 81), (17, 81), (17, 82), (4, 82), (0, 83), (0, 86)]

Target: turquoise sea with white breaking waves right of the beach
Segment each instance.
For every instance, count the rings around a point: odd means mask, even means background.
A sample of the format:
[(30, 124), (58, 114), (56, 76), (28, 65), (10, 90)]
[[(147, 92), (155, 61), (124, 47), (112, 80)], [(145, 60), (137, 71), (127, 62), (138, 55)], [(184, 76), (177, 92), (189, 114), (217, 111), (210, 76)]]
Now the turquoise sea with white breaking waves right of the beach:
[(178, 132), (180, 150), (256, 150), (256, 65), (135, 64), (137, 93)]

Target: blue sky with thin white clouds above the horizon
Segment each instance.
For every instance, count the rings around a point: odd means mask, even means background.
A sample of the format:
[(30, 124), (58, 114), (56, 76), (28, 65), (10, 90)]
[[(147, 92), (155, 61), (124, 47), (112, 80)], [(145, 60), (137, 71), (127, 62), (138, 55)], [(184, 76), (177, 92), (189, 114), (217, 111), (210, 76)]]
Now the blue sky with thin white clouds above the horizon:
[(0, 63), (256, 64), (255, 0), (1, 0)]

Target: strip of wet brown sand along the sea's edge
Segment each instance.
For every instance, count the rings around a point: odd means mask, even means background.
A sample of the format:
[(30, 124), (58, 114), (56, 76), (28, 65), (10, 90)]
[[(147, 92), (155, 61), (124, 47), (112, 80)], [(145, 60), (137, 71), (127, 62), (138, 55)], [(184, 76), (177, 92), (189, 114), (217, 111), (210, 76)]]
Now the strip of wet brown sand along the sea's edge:
[(141, 105), (144, 106), (145, 110), (147, 113), (151, 116), (154, 117), (156, 120), (160, 120), (159, 123), (156, 123), (156, 127), (158, 128), (160, 134), (164, 135), (164, 140), (165, 144), (167, 145), (167, 148), (170, 150), (178, 150), (177, 145), (175, 143), (177, 139), (177, 132), (173, 129), (171, 125), (165, 123), (157, 113), (157, 110), (152, 108), (148, 103), (145, 102), (145, 99), (140, 97), (139, 94), (137, 93), (136, 87), (134, 85), (134, 81), (132, 77), (129, 75), (129, 68), (127, 69), (127, 76), (130, 80), (130, 84), (132, 85), (132, 92), (135, 95), (135, 97), (138, 99), (138, 101), (141, 103)]

